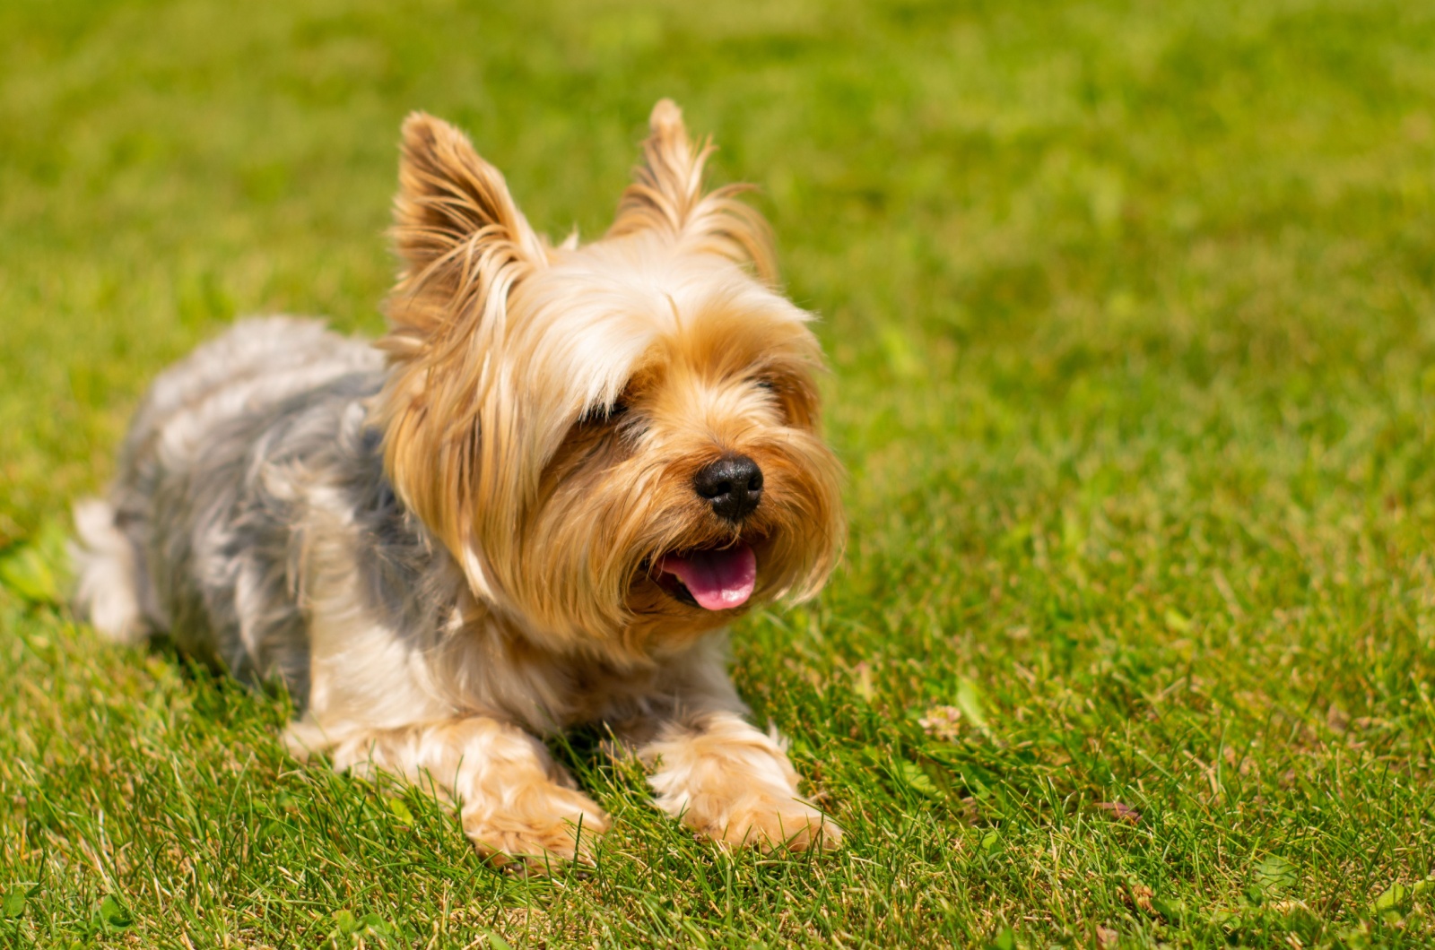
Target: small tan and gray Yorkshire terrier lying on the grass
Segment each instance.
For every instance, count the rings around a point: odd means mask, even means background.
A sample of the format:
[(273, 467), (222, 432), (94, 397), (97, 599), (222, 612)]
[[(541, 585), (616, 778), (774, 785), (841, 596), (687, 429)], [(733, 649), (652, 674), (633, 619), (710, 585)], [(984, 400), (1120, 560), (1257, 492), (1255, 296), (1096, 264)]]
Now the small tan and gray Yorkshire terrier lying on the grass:
[(611, 228), (552, 244), (410, 115), (387, 334), (253, 319), (165, 370), (76, 505), (82, 616), (281, 680), (296, 755), (430, 788), (501, 865), (593, 861), (608, 819), (542, 742), (585, 723), (699, 837), (837, 847), (726, 673), (844, 521), (812, 314), (712, 148), (659, 102)]

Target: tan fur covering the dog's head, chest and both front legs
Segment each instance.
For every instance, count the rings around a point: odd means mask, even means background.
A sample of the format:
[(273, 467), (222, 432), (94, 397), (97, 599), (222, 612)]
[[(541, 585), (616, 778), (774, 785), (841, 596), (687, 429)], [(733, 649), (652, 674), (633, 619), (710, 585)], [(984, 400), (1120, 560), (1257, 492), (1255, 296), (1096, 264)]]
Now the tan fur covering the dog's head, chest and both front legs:
[[(306, 728), (311, 740), (337, 730), (316, 742), (336, 765), (372, 756), (400, 775), (435, 773), (491, 851), (573, 857), (580, 848), (557, 828), (606, 827), (505, 718), (535, 730), (593, 719), (644, 728), (659, 805), (713, 840), (839, 840), (798, 796), (781, 745), (742, 720), (720, 652), (702, 646), (738, 611), (679, 603), (650, 575), (666, 551), (740, 540), (758, 554), (756, 603), (808, 597), (842, 537), (838, 466), (817, 433), (809, 317), (772, 291), (768, 228), (736, 201), (740, 187), (703, 191), (712, 146), (693, 146), (669, 100), (651, 128), (606, 238), (557, 248), (462, 133), (425, 115), (403, 128), (405, 270), (380, 344), (392, 372), (377, 419), (390, 479), (472, 597), (442, 660), (364, 647), (403, 685), (390, 692), (396, 710), (423, 709), (420, 725), (400, 723), (380, 700), (375, 722), (380, 690), (354, 679), (364, 666), (326, 659), (352, 654), (362, 627), (343, 620), (353, 597), (340, 565), (333, 607), (316, 611)], [(527, 385), (512, 385), (518, 375)], [(766, 475), (740, 530), (692, 491), (723, 452)], [(366, 722), (382, 728), (350, 732)]]

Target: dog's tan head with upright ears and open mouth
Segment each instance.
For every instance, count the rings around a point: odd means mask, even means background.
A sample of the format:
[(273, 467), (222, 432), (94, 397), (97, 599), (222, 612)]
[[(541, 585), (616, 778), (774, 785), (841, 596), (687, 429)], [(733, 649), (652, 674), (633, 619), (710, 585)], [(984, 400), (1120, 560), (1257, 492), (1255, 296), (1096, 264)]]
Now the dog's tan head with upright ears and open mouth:
[(451, 126), (405, 125), (389, 476), (475, 594), (640, 656), (821, 587), (842, 537), (809, 314), (761, 218), (705, 194), (670, 102), (597, 243), (551, 247)]

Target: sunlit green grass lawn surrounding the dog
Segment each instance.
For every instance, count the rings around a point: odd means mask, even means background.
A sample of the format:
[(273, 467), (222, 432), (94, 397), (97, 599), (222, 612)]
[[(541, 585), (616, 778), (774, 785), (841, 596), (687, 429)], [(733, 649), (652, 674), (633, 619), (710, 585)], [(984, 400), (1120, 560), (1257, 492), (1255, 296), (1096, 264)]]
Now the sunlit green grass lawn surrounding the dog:
[[(848, 557), (735, 674), (848, 844), (578, 736), (614, 831), (515, 880), (49, 571), (166, 362), (379, 330), (409, 109), (591, 235), (662, 95), (824, 314)], [(1435, 943), (1429, 4), (10, 0), (0, 380), (0, 943)]]

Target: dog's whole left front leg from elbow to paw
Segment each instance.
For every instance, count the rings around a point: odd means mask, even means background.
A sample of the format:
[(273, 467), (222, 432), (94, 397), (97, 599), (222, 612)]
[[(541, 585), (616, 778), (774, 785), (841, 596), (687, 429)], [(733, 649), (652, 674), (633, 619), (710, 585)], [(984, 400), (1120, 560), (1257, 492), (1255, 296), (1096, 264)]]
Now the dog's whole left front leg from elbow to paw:
[(286, 739), (296, 755), (324, 752), (334, 769), (399, 775), (459, 806), (464, 831), (481, 854), (532, 868), (552, 860), (591, 861), (607, 817), (530, 733), (469, 716), (402, 729), (324, 736), (296, 723)]

